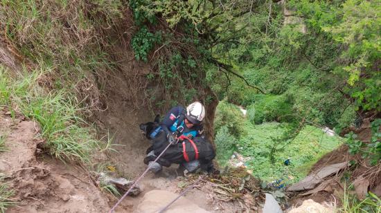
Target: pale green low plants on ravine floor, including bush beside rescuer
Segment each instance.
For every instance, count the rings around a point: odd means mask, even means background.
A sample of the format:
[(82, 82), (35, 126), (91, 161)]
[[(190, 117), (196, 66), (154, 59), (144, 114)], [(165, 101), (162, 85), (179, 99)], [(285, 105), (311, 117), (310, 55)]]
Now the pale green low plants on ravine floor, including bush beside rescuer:
[[(268, 182), (283, 179), (286, 183), (294, 183), (308, 174), (321, 156), (344, 142), (343, 138), (328, 136), (322, 129), (310, 125), (305, 125), (296, 136), (285, 139), (285, 134), (294, 131), (287, 122), (251, 122), (254, 116), (251, 113), (263, 110), (263, 105), (258, 108), (247, 111), (247, 118), (243, 118), (235, 105), (225, 101), (218, 105), (215, 144), (220, 166), (227, 165), (233, 151), (237, 151), (246, 158), (245, 166), (254, 176)], [(288, 158), (291, 163), (285, 166), (283, 163)]]

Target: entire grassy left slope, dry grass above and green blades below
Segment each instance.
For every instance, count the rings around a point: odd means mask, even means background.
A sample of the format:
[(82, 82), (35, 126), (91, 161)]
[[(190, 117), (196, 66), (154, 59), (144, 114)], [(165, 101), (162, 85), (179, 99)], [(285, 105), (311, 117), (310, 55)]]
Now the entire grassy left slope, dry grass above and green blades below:
[(46, 151), (61, 160), (89, 163), (109, 148), (83, 118), (101, 107), (91, 86), (114, 68), (107, 29), (116, 32), (123, 10), (122, 1), (0, 3), (1, 37), (21, 59), (21, 71), (0, 66), (0, 105), (37, 121)]

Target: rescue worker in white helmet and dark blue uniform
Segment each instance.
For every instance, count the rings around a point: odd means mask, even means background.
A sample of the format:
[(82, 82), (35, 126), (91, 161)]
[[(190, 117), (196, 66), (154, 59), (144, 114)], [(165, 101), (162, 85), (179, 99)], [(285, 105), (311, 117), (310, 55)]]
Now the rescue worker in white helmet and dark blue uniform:
[[(166, 116), (161, 122), (159, 127), (154, 129), (150, 133), (150, 138), (154, 143), (152, 145), (152, 151), (148, 153), (148, 156), (153, 157), (156, 153), (163, 150), (163, 142), (170, 142), (175, 145), (179, 136), (186, 136), (188, 138), (204, 137), (202, 121), (205, 118), (205, 108), (200, 102), (193, 102), (186, 109), (182, 106), (173, 107), (166, 113)], [(156, 173), (161, 171), (162, 165), (159, 163), (149, 162), (151, 171)], [(181, 164), (188, 172), (195, 172), (200, 167), (199, 160), (193, 160), (188, 163)]]

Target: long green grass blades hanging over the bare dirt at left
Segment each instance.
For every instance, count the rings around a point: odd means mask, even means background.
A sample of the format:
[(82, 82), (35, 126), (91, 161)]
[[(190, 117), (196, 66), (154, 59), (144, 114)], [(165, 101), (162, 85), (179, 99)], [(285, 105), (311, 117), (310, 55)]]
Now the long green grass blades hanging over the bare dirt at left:
[(98, 143), (94, 140), (95, 131), (78, 116), (81, 108), (71, 93), (64, 90), (46, 92), (38, 86), (43, 72), (34, 71), (11, 79), (0, 66), (1, 88), (9, 94), (2, 102), (8, 103), (9, 108), (17, 107), (27, 118), (39, 123), (46, 150), (51, 155), (61, 160), (88, 162)]

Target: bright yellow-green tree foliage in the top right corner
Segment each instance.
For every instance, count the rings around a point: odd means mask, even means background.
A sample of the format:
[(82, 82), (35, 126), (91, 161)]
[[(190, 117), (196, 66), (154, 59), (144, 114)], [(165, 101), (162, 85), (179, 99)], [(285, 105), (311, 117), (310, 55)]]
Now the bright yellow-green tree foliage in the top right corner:
[[(290, 1), (310, 28), (326, 34), (330, 44), (346, 46), (335, 55), (331, 67), (346, 80), (346, 94), (357, 109), (380, 111), (381, 8), (378, 1)], [(327, 53), (328, 54), (328, 53)]]

